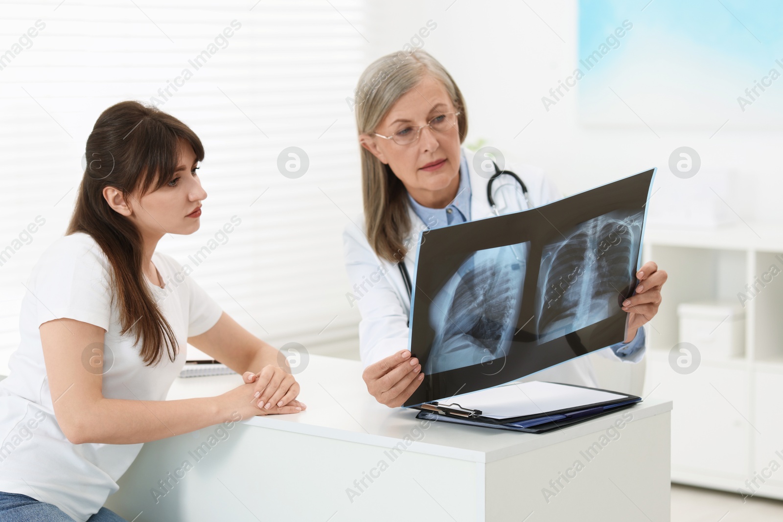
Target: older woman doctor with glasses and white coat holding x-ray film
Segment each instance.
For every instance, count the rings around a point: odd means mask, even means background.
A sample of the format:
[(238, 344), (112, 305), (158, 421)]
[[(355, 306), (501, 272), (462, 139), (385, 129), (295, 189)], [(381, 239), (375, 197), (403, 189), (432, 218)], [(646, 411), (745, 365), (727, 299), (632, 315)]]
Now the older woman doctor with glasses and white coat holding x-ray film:
[[(364, 89), (365, 86), (370, 88)], [(359, 306), (359, 351), (363, 379), (384, 405), (402, 405), (424, 379), (408, 350), (410, 293), (405, 264), (415, 281), (419, 232), (490, 218), (557, 200), (561, 196), (534, 167), (513, 168), (493, 182), (474, 169), (473, 155), (461, 148), (467, 135), (467, 108), (460, 89), (437, 60), (424, 51), (400, 58), (383, 56), (359, 78), (355, 105), (362, 146), (364, 213), (344, 233), (345, 264), (352, 284), (349, 299)], [(637, 272), (637, 293), (623, 302), (630, 313), (625, 343), (599, 351), (608, 358), (639, 362), (644, 329), (658, 311), (666, 272), (653, 262)], [(536, 374), (539, 380), (595, 386), (589, 358), (576, 358)]]

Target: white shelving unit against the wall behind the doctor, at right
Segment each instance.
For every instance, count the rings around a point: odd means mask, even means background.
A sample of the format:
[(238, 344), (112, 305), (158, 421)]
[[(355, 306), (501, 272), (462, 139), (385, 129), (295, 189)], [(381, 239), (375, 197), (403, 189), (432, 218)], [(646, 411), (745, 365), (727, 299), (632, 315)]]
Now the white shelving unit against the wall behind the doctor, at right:
[[(669, 274), (648, 330), (644, 395), (673, 401), (672, 481), (783, 499), (783, 224), (649, 229), (644, 259)], [(745, 302), (744, 355), (701, 352), (693, 373), (675, 372), (669, 351), (681, 341), (677, 305), (739, 302), (738, 293), (771, 265), (781, 273)], [(721, 334), (716, 322), (713, 335)]]

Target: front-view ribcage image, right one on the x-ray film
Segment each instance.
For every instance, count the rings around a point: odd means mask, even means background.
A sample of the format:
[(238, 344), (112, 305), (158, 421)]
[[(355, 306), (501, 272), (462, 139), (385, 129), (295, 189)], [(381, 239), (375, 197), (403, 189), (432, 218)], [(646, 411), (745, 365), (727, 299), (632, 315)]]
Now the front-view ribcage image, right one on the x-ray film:
[(637, 268), (643, 218), (643, 211), (613, 211), (543, 247), (536, 285), (539, 344), (619, 310)]

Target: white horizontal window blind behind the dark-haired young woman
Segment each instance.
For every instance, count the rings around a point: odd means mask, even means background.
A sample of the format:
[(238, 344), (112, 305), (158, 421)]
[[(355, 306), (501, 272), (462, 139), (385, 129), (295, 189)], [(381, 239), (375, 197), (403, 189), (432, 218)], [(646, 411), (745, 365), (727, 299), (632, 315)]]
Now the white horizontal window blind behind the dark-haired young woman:
[[(341, 232), (361, 209), (345, 99), (365, 65), (363, 2), (57, 0), (0, 10), (0, 374), (19, 343), (23, 283), (67, 227), (89, 131), (124, 99), (178, 117), (206, 149), (200, 230), (167, 234), (158, 250), (190, 265), (229, 315), (275, 346), (356, 349)], [(290, 156), (290, 147), (301, 150)], [(286, 162), (309, 166), (292, 174)]]

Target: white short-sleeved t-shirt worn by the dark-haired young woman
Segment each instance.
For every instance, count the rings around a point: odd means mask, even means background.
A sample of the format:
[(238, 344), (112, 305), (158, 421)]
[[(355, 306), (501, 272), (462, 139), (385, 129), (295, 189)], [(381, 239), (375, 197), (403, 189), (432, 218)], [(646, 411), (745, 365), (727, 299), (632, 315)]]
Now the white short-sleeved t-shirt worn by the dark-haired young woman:
[[(156, 253), (152, 259), (165, 288), (147, 283), (180, 349), (174, 362), (164, 352), (154, 366), (144, 365), (131, 333), (120, 334), (109, 264), (91, 236), (58, 239), (33, 268), (22, 300), (20, 346), (9, 377), (0, 381), (0, 491), (49, 502), (81, 522), (117, 491), (117, 479), (142, 445), (68, 441), (54, 416), (38, 327), (56, 318), (100, 326), (106, 330), (103, 397), (164, 401), (185, 363), (187, 338), (215, 326), (222, 310), (173, 258)], [(85, 347), (81, 360), (94, 373), (93, 348)]]

